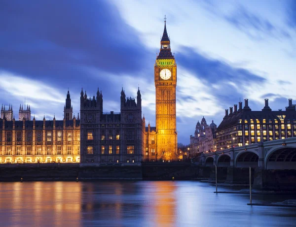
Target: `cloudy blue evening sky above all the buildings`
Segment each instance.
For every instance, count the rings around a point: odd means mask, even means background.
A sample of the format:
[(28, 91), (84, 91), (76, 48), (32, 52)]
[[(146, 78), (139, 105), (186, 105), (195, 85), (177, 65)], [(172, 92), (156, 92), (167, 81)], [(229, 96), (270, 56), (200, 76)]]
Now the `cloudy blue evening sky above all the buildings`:
[[(103, 111), (120, 111), (120, 92), (142, 94), (155, 126), (154, 62), (167, 18), (177, 63), (178, 142), (188, 144), (204, 116), (219, 126), (224, 109), (269, 99), (296, 103), (295, 0), (1, 0), (0, 104), (30, 104), (37, 120), (63, 119), (69, 88), (102, 90)], [(244, 104), (244, 103), (243, 103)]]

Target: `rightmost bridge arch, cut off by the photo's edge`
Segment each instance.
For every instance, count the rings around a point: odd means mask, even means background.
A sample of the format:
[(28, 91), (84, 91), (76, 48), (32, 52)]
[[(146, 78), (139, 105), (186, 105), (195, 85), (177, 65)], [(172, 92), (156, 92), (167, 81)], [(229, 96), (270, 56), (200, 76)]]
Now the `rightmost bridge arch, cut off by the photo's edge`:
[(280, 146), (268, 151), (266, 169), (296, 169), (296, 147)]

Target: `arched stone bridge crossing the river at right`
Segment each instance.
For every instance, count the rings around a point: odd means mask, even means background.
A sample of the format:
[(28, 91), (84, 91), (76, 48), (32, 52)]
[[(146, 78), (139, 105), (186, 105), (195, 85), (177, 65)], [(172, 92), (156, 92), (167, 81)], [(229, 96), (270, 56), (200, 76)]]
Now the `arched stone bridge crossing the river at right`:
[(204, 166), (296, 169), (296, 137), (204, 152), (199, 161)]

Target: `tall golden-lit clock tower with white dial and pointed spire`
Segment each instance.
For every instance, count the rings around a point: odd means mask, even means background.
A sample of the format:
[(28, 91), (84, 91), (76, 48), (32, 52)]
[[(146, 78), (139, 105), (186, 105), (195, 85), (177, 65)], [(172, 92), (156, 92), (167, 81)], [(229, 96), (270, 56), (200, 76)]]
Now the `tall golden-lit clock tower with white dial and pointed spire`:
[(156, 155), (157, 159), (173, 160), (177, 155), (176, 85), (177, 65), (171, 52), (166, 30), (160, 41), (160, 51), (154, 64), (156, 97)]

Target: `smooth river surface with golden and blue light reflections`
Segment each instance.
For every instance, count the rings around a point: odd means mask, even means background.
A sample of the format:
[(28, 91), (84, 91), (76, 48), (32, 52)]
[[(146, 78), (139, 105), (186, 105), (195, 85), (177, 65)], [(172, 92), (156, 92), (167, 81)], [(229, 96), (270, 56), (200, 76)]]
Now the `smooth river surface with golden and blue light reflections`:
[[(296, 226), (295, 208), (251, 207), (249, 195), (214, 190), (195, 181), (0, 183), (0, 226)], [(285, 199), (296, 195), (253, 195)]]

